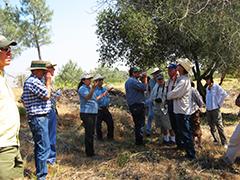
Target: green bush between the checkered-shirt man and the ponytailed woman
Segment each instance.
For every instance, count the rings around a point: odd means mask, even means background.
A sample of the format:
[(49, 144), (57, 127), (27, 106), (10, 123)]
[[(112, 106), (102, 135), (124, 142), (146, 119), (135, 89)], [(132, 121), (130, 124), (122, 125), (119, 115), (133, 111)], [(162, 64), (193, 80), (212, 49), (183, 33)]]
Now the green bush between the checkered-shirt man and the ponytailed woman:
[(69, 60), (60, 68), (55, 78), (55, 86), (59, 88), (77, 88), (83, 71), (76, 62)]

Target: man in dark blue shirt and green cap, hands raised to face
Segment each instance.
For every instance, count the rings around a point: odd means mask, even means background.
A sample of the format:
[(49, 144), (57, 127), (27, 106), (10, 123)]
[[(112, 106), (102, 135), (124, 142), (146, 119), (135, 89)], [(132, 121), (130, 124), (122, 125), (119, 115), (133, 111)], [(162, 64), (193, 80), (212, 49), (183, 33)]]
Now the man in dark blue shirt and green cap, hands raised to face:
[[(147, 86), (147, 75), (139, 67), (131, 67), (129, 78), (125, 83), (126, 98), (135, 124), (135, 144), (143, 145), (143, 128), (145, 124), (144, 91)], [(141, 81), (138, 78), (141, 77)]]

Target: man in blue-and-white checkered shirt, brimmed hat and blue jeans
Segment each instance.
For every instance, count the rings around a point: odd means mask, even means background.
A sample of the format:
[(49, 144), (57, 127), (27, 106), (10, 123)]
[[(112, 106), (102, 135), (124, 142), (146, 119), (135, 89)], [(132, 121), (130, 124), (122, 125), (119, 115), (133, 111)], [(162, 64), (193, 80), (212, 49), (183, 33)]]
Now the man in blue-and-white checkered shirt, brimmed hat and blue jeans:
[(32, 73), (24, 82), (22, 101), (33, 134), (36, 175), (38, 179), (46, 179), (50, 153), (48, 114), (51, 110), (51, 74), (47, 72), (45, 61), (32, 61), (30, 70)]

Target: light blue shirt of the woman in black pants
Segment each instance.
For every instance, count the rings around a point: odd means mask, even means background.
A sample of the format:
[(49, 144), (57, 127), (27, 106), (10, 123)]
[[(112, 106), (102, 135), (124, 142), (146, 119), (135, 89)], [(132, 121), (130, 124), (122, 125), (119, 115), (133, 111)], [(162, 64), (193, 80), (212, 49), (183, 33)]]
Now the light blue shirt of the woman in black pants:
[(90, 93), (90, 87), (83, 84), (78, 89), (78, 95), (80, 98), (80, 112), (81, 113), (89, 113), (89, 114), (97, 114), (98, 113), (98, 104), (96, 100), (96, 94), (93, 93), (91, 99), (86, 100), (86, 96)]

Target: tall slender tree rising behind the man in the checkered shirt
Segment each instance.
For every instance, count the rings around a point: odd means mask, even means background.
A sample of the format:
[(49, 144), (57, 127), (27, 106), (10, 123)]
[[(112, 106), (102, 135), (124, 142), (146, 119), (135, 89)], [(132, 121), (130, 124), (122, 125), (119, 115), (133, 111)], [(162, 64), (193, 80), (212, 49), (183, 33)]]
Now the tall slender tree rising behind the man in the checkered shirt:
[(41, 59), (40, 47), (50, 44), (50, 27), (53, 11), (46, 5), (45, 0), (21, 0), (21, 28), (27, 30), (23, 44), (38, 50)]

